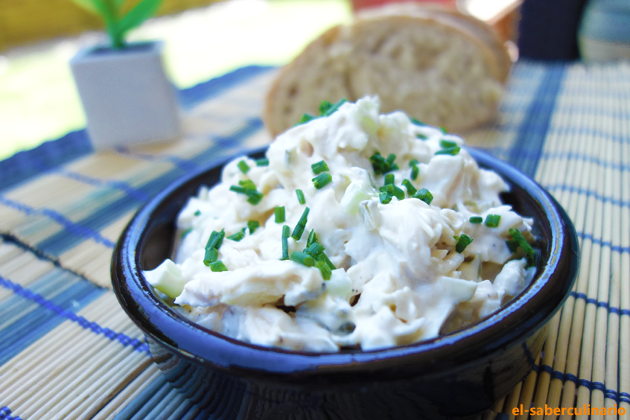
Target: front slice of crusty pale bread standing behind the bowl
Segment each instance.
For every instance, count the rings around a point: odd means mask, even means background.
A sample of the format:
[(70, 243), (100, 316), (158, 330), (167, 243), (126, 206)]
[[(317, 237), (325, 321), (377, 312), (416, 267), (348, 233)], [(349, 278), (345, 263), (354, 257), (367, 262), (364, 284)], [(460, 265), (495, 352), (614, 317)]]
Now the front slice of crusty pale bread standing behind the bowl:
[[(437, 10), (367, 13), (329, 29), (276, 77), (266, 98), (267, 128), (275, 137), (302, 113), (316, 114), (322, 100), (365, 94), (378, 94), (383, 112), (403, 109), (451, 131), (487, 122), (509, 67), (488, 45), (491, 38), (475, 36), (473, 24), (456, 19)], [(469, 75), (465, 64), (479, 76)]]

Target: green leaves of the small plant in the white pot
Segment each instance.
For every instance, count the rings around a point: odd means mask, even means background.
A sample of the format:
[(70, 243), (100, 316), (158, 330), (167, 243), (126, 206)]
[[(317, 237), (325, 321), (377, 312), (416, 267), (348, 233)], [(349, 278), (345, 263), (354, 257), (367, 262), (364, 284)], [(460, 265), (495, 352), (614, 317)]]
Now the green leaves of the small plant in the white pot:
[(126, 0), (72, 0), (105, 22), (113, 48), (125, 48), (125, 34), (150, 18), (160, 7), (162, 0), (140, 0), (128, 12)]

